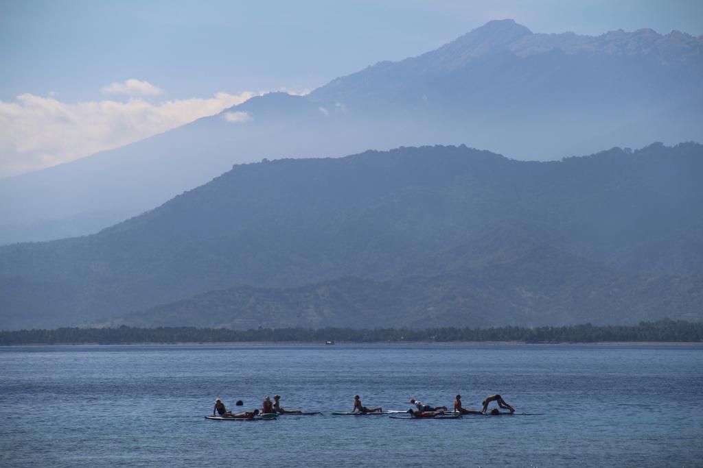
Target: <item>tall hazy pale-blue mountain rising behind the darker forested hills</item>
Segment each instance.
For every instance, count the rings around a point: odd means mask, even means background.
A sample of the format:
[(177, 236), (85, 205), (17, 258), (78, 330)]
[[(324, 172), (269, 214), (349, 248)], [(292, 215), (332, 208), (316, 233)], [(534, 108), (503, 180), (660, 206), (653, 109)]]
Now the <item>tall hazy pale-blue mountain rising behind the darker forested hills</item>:
[[(0, 243), (77, 236), (263, 158), (466, 143), (516, 159), (702, 139), (703, 38), (489, 22), (306, 96), (273, 93), (127, 147), (0, 180)], [(219, 284), (218, 286), (230, 286)]]

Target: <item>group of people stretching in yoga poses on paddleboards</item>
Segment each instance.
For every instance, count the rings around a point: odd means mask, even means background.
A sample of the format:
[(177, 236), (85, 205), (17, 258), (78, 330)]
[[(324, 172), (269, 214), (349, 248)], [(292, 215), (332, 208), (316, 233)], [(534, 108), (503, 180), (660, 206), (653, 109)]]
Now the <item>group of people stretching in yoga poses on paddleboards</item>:
[[(503, 400), (503, 397), (500, 395), (490, 395), (487, 396), (486, 399), (483, 401), (483, 408), (478, 411), (478, 410), (467, 410), (462, 406), (461, 403), (461, 395), (457, 395), (456, 399), (454, 400), (454, 407), (451, 410), (453, 413), (458, 413), (461, 415), (480, 415), (480, 414), (486, 414), (486, 411), (488, 410), (489, 403), (491, 401), (495, 401), (498, 404), (498, 407), (510, 410), (510, 413), (515, 413), (515, 408), (512, 408), (508, 403)], [(415, 400), (415, 399), (410, 399), (410, 403), (415, 405), (416, 409), (411, 408), (408, 410), (408, 413), (413, 415), (413, 417), (435, 417), (437, 414), (443, 414), (445, 411), (449, 411), (449, 409), (446, 406), (432, 406), (432, 405), (426, 405), (422, 401)], [(237, 401), (236, 406), (243, 406), (243, 402), (241, 400)], [(380, 406), (376, 406), (375, 408), (367, 408), (366, 406), (363, 406), (361, 403), (361, 396), (355, 395), (354, 396), (354, 409), (352, 410), (352, 413), (382, 413), (383, 408)], [(264, 402), (262, 403), (262, 409), (255, 409), (253, 411), (243, 411), (241, 413), (233, 413), (232, 411), (227, 410), (225, 408), (224, 403), (220, 399), (215, 400), (215, 407), (212, 410), (212, 415), (214, 416), (215, 413), (218, 413), (221, 417), (254, 417), (259, 414), (302, 414), (302, 411), (300, 410), (285, 410), (283, 409), (282, 406), (280, 406), (280, 395), (273, 395), (273, 401), (271, 401), (271, 398), (269, 395), (266, 395), (266, 398), (264, 399)], [(498, 415), (500, 412), (498, 411), (498, 408), (494, 408), (491, 410), (492, 415)]]

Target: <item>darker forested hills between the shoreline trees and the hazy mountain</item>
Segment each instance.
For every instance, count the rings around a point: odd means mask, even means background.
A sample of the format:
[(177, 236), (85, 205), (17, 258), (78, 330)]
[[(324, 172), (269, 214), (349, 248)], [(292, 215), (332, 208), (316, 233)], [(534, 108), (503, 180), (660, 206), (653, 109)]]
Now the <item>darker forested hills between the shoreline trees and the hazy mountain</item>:
[(699, 321), (702, 176), (693, 143), (235, 166), (99, 234), (0, 248), (0, 328)]

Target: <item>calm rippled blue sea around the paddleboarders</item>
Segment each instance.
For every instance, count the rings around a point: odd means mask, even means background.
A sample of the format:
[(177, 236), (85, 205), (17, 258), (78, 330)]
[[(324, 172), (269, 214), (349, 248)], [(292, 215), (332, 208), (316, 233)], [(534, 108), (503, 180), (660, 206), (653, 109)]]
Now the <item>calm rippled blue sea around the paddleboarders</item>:
[[(218, 422), (214, 399), (321, 410)], [(542, 416), (331, 416), (414, 397)], [(0, 464), (694, 467), (703, 347), (243, 345), (0, 347)]]

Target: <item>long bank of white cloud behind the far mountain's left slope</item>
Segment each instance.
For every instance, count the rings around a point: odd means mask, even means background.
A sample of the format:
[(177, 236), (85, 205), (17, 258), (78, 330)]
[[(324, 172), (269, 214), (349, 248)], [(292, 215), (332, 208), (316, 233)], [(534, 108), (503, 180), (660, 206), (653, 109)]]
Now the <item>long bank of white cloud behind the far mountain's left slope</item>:
[(217, 93), (158, 104), (141, 98), (67, 103), (32, 94), (0, 101), (0, 177), (128, 145), (259, 94)]

